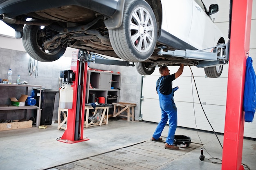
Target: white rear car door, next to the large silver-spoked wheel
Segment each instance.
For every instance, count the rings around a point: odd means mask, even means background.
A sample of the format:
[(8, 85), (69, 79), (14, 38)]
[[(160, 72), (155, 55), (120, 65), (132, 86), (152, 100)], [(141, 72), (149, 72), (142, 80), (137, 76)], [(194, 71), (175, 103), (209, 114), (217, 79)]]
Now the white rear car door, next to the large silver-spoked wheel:
[(162, 29), (188, 42), (192, 22), (192, 0), (161, 0), (161, 2)]

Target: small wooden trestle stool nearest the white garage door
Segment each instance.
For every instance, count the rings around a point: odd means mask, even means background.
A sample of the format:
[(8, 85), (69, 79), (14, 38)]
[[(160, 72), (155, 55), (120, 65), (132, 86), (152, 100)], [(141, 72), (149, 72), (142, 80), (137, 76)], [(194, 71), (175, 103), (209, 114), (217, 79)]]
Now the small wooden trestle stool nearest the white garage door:
[[(124, 103), (124, 102), (112, 103), (112, 104), (114, 105), (113, 117), (117, 117), (118, 115), (124, 116), (124, 117), (127, 117), (127, 121), (130, 121), (130, 117), (132, 117), (132, 121), (134, 121), (134, 107), (136, 106), (136, 104)], [(130, 113), (130, 108), (132, 108), (132, 113)], [(118, 110), (117, 113), (116, 113), (116, 109)], [(126, 111), (127, 115), (120, 115), (120, 113), (123, 113), (124, 111)]]

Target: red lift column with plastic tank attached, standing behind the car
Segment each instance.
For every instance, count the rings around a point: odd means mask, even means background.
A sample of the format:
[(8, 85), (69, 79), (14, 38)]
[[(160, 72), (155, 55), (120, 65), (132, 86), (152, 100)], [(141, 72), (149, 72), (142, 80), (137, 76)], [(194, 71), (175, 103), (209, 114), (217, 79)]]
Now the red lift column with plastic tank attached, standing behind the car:
[(64, 143), (76, 143), (87, 141), (88, 138), (83, 139), (83, 122), (85, 113), (85, 89), (87, 81), (87, 62), (85, 55), (79, 54), (79, 50), (72, 52), (71, 70), (75, 73), (75, 80), (73, 81), (73, 105), (72, 109), (68, 109), (67, 114), (67, 129), (58, 141)]

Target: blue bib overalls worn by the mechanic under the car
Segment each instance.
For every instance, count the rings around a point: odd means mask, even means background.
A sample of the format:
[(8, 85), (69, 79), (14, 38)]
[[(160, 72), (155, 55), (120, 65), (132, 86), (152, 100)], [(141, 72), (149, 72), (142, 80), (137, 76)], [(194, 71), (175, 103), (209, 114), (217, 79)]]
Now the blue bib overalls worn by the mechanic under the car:
[(163, 95), (159, 91), (159, 87), (163, 78), (164, 77), (160, 79), (159, 84), (157, 86), (160, 108), (162, 110), (162, 118), (161, 121), (158, 123), (157, 128), (155, 129), (153, 138), (159, 139), (169, 119), (169, 131), (168, 136), (166, 137), (166, 143), (169, 145), (173, 145), (174, 134), (177, 128), (177, 108), (173, 100), (173, 90), (172, 93), (169, 95)]

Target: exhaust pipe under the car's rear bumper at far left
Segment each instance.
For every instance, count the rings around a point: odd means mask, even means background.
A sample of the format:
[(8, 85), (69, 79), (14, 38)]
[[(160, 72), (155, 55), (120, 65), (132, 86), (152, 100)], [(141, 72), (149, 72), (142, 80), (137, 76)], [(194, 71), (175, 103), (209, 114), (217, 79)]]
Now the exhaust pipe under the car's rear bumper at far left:
[(24, 21), (24, 20), (17, 20), (13, 18), (9, 18), (7, 15), (3, 13), (0, 14), (0, 20), (6, 22), (8, 24), (27, 24), (27, 25), (37, 25), (37, 26), (48, 26), (52, 24), (53, 21), (43, 21), (43, 20), (32, 20), (32, 21)]

